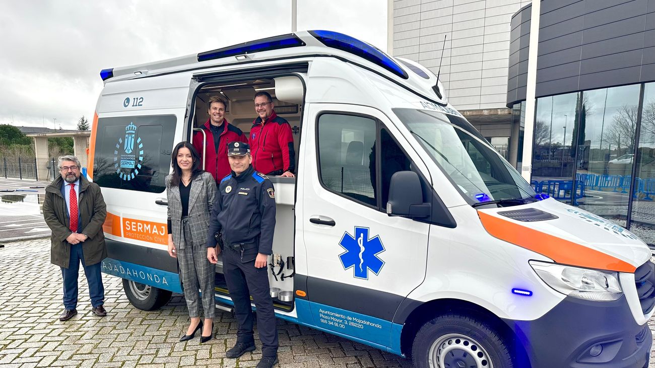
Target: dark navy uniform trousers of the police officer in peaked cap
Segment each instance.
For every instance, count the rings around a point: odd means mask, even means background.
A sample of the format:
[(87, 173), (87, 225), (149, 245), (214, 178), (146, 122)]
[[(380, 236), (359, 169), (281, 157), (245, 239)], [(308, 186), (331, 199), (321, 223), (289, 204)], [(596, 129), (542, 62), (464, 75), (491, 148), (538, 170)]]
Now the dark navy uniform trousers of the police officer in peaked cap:
[(253, 318), (250, 296), (257, 308), (257, 330), (261, 340), (261, 354), (275, 356), (278, 353), (278, 330), (269, 287), (268, 268), (255, 268), (255, 261), (241, 263), (240, 253), (225, 247), (223, 251), (223, 275), (234, 302), (234, 314), (239, 323), (237, 342), (254, 342)]

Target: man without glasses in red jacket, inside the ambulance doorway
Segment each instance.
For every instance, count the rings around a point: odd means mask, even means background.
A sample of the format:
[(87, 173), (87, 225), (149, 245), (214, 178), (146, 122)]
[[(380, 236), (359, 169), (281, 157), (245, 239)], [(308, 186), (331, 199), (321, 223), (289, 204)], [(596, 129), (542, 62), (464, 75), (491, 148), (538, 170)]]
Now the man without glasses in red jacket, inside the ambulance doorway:
[(193, 133), (193, 147), (198, 150), (205, 162), (205, 171), (212, 174), (216, 181), (230, 174), (230, 163), (227, 160), (227, 143), (240, 141), (248, 143), (248, 137), (236, 126), (225, 119), (225, 101), (218, 96), (212, 96), (207, 103), (209, 120), (202, 126), (207, 140), (204, 156), (202, 154), (202, 133)]

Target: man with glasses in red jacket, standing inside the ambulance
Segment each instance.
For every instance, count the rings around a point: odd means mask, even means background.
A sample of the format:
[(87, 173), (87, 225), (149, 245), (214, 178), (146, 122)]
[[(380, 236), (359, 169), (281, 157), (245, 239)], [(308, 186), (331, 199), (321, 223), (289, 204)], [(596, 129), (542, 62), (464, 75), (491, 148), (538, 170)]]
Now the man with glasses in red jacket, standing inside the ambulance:
[(257, 119), (248, 137), (255, 170), (267, 175), (294, 177), (295, 153), (291, 125), (273, 110), (273, 99), (268, 92), (255, 94)]

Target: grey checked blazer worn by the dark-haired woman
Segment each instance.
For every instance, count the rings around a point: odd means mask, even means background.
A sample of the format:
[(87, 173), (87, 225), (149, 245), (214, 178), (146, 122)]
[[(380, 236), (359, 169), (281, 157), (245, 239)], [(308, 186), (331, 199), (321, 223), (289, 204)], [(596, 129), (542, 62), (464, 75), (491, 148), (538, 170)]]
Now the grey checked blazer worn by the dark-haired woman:
[[(176, 247), (182, 249), (182, 200), (179, 196), (179, 187), (171, 185), (172, 175), (166, 176), (166, 197), (168, 198), (168, 219), (171, 221), (171, 234)], [(203, 172), (197, 175), (191, 183), (189, 193), (189, 229), (194, 245), (204, 246), (207, 242), (207, 229), (209, 228), (210, 213), (216, 202), (216, 181), (212, 174)]]

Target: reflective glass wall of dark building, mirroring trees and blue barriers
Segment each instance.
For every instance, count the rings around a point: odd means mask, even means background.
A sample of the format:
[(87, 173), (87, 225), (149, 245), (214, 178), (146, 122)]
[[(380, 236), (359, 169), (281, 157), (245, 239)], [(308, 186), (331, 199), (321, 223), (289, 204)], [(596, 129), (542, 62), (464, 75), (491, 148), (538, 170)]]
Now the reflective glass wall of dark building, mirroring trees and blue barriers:
[(538, 98), (533, 137), (536, 191), (655, 244), (655, 83)]

